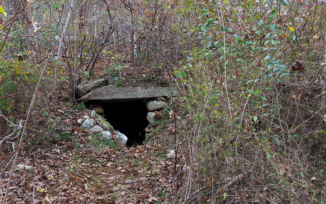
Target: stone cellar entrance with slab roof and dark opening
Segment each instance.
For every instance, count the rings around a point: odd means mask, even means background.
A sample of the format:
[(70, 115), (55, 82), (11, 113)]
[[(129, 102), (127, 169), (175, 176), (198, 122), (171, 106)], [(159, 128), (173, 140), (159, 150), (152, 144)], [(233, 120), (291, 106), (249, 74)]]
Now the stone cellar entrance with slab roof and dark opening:
[[(86, 101), (86, 105), (88, 107), (92, 105), (91, 109), (96, 113), (104, 114), (101, 116), (114, 130), (126, 135), (128, 138), (126, 146), (129, 147), (142, 144), (146, 136), (145, 131), (150, 133), (152, 125), (155, 124), (154, 111), (166, 108), (167, 102), (164, 97), (169, 94), (172, 96), (170, 87), (108, 85), (94, 89), (96, 86), (95, 81), (76, 86), (75, 94), (82, 96), (78, 101)], [(87, 93), (90, 90), (92, 91)]]

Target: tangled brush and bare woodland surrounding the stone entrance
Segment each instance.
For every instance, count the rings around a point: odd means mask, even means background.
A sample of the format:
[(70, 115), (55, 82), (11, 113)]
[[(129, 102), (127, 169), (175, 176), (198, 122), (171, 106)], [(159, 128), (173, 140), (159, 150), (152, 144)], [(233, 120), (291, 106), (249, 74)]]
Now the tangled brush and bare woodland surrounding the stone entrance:
[(82, 109), (74, 87), (111, 76), (176, 91), (153, 133), (170, 134), (178, 155), (169, 202), (326, 202), (324, 1), (0, 5), (1, 179), (31, 137), (73, 135), (53, 103)]

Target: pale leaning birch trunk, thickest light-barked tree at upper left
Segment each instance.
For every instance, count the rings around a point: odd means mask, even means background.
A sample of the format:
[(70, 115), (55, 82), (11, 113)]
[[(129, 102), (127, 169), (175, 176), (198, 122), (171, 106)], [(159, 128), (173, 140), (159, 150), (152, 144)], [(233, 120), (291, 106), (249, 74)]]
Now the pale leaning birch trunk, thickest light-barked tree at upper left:
[[(72, 16), (74, 14), (74, 10), (76, 8), (76, 4), (77, 4), (77, 1), (76, 0), (72, 0), (71, 1), (71, 4), (70, 4), (70, 9), (69, 9), (69, 13), (68, 13), (68, 16), (67, 16), (67, 21), (65, 23), (65, 27), (63, 28), (63, 31), (62, 31), (62, 37), (60, 39), (60, 43), (59, 43), (59, 48), (58, 48), (58, 64), (61, 62), (61, 58), (62, 58), (62, 51), (64, 50), (65, 48), (65, 43), (64, 41), (66, 39), (68, 39), (68, 28), (70, 27), (70, 23), (71, 23), (71, 20), (72, 20)], [(57, 66), (56, 70), (55, 70), (55, 74), (54, 74), (54, 90), (57, 91), (59, 88), (61, 88), (61, 84), (60, 84), (60, 81), (59, 81), (59, 74), (58, 74), (58, 71), (60, 69), (60, 66)]]

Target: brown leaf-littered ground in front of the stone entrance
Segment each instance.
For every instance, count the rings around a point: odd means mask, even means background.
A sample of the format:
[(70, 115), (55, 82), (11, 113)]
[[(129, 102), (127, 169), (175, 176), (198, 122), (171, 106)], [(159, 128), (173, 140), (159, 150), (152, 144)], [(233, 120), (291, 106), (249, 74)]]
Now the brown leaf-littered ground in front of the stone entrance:
[[(123, 149), (100, 147), (91, 136), (79, 139), (84, 141), (82, 148), (75, 148), (72, 142), (46, 149), (24, 147), (19, 157), (28, 158), (32, 170), (14, 173), (12, 181), (18, 188), (10, 191), (9, 202), (33, 203), (33, 197), (34, 203), (174, 200), (171, 194), (176, 195), (182, 172), (173, 174), (174, 158), (167, 158), (170, 139), (166, 136), (157, 134), (148, 144)], [(177, 171), (180, 166), (176, 164)]]

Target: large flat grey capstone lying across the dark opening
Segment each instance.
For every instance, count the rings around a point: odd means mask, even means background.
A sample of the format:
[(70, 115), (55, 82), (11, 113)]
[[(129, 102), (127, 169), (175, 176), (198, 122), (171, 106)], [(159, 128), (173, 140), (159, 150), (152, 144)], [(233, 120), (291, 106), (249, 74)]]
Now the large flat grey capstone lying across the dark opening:
[(126, 102), (171, 95), (171, 87), (104, 86), (89, 92), (78, 101)]

